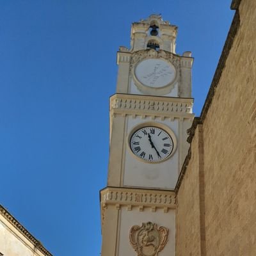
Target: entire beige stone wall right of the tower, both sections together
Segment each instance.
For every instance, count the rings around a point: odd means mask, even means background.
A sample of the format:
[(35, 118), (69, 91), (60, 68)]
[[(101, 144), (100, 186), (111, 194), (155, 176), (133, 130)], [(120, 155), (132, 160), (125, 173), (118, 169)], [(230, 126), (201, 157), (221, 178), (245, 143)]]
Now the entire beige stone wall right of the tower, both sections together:
[[(180, 256), (256, 253), (255, 13), (255, 0), (241, 1), (240, 27), (203, 125), (196, 127), (191, 143), (191, 159), (177, 194)], [(196, 148), (200, 129), (201, 151)]]

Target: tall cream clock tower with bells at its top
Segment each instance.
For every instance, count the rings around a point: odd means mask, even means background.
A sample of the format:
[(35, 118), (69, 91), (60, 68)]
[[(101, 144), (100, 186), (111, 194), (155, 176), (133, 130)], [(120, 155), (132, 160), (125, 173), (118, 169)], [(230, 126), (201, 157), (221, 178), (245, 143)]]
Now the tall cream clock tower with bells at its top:
[(176, 54), (177, 26), (134, 22), (117, 53), (110, 97), (108, 186), (100, 191), (102, 256), (174, 256), (175, 193), (193, 121), (191, 52)]

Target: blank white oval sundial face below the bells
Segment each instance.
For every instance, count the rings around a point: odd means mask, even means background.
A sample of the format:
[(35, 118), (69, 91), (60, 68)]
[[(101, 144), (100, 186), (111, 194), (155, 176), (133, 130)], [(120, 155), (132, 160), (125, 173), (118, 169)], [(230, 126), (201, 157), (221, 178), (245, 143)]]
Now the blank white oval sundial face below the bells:
[(174, 66), (167, 61), (147, 59), (137, 65), (135, 76), (145, 86), (161, 88), (172, 83), (175, 79), (176, 71)]

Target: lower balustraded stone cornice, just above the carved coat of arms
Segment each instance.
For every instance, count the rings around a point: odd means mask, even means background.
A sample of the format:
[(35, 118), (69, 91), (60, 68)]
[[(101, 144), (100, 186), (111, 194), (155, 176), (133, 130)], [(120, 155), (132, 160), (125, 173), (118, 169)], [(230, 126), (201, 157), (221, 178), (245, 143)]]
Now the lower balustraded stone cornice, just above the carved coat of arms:
[(108, 187), (100, 191), (100, 211), (101, 221), (104, 225), (105, 211), (109, 205), (114, 205), (116, 210), (125, 206), (127, 211), (144, 211), (145, 207), (155, 212), (157, 209), (163, 209), (168, 212), (169, 209), (175, 209), (175, 192), (154, 189), (135, 189), (135, 188), (113, 188)]

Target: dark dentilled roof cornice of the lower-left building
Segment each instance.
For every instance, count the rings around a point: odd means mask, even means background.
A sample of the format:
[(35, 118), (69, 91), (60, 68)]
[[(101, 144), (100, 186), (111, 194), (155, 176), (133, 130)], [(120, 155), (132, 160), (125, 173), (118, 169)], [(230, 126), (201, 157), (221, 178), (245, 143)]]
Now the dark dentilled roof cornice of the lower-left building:
[(50, 252), (48, 252), (45, 247), (42, 245), (40, 241), (38, 241), (34, 236), (32, 236), (26, 228), (24, 228), (19, 221), (17, 221), (10, 212), (8, 212), (2, 205), (0, 205), (0, 214), (7, 220), (9, 223), (15, 227), (22, 236), (25, 236), (32, 244), (34, 244), (35, 248), (38, 249), (46, 256), (52, 256)]

